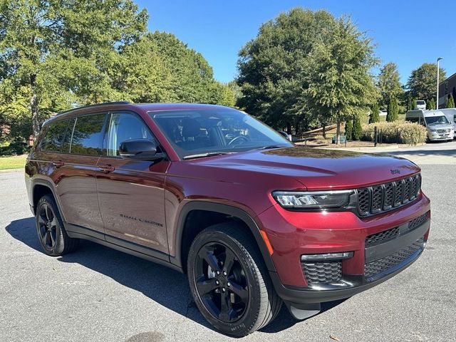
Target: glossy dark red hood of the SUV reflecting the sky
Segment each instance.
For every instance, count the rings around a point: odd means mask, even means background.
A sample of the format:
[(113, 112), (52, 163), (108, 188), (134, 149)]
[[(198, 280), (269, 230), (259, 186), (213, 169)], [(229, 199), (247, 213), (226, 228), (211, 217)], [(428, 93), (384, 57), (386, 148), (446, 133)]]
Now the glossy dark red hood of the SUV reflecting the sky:
[[(390, 182), (420, 171), (413, 162), (392, 155), (301, 146), (239, 152), (195, 160), (195, 164), (204, 168), (232, 170), (224, 172), (226, 181), (238, 178), (239, 182), (242, 176), (237, 172), (248, 172), (250, 177), (244, 179), (249, 182), (261, 182), (261, 179), (271, 182), (274, 181), (271, 179), (273, 175), (281, 180), (284, 177), (293, 178), (308, 190), (363, 187)], [(252, 177), (252, 174), (256, 177)], [(262, 178), (261, 174), (267, 174), (268, 177)]]

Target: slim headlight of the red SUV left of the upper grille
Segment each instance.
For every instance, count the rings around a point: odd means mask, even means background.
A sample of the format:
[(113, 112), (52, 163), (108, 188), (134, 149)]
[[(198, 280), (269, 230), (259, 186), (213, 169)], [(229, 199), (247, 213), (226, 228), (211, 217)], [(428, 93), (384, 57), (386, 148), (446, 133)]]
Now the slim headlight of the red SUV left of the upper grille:
[(345, 207), (353, 190), (288, 192), (274, 191), (272, 196), (286, 209), (331, 209)]

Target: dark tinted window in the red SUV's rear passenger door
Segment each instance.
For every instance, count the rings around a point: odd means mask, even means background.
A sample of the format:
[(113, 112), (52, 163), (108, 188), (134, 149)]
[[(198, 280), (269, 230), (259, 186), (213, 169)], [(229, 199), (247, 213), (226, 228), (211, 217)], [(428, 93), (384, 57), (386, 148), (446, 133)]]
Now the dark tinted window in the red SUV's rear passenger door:
[(79, 116), (73, 130), (70, 153), (100, 155), (103, 148), (105, 114)]

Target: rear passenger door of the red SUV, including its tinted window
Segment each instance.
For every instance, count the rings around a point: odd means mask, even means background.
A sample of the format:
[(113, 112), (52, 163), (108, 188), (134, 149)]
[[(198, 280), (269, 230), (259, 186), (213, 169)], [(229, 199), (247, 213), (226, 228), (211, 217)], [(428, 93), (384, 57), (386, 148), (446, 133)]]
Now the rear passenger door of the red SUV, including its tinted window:
[[(56, 192), (66, 221), (88, 228), (103, 239), (103, 220), (96, 190), (97, 162), (103, 150), (106, 113), (73, 118), (61, 155)], [(69, 134), (71, 133), (71, 134)], [(70, 230), (73, 230), (70, 227)], [(94, 233), (94, 234), (95, 234)], [(93, 234), (92, 234), (93, 235)]]

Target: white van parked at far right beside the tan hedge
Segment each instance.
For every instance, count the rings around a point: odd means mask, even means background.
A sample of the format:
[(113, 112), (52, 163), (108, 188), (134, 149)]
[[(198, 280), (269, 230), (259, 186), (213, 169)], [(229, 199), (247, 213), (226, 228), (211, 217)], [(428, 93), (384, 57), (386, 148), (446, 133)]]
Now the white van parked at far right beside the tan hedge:
[(408, 110), (405, 120), (427, 129), (427, 140), (453, 140), (455, 130), (441, 110)]

